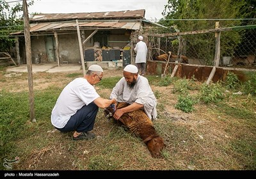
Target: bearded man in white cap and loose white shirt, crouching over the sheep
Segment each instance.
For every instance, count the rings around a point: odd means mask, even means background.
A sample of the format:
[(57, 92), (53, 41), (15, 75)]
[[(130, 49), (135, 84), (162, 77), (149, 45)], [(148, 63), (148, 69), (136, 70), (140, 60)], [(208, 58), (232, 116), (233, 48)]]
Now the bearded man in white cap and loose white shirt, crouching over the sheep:
[(124, 113), (143, 108), (150, 120), (156, 120), (157, 100), (150, 88), (148, 79), (138, 74), (138, 68), (135, 65), (125, 66), (123, 74), (124, 77), (116, 83), (110, 98), (131, 105), (116, 109), (113, 117), (118, 120)]

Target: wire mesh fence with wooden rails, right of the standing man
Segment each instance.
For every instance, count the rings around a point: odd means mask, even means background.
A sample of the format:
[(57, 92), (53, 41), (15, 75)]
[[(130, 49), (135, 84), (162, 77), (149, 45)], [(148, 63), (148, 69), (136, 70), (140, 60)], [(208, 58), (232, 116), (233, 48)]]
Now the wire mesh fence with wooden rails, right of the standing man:
[[(214, 60), (219, 56), (218, 66), (256, 67), (256, 25), (229, 27), (225, 24), (225, 27), (196, 31), (180, 31), (177, 27), (145, 29), (145, 31), (151, 60), (157, 60), (157, 56), (172, 52), (175, 58), (170, 61), (184, 62), (181, 57), (186, 56), (189, 64), (214, 65)], [(216, 45), (218, 37), (219, 55)], [(167, 61), (167, 58), (164, 60)]]

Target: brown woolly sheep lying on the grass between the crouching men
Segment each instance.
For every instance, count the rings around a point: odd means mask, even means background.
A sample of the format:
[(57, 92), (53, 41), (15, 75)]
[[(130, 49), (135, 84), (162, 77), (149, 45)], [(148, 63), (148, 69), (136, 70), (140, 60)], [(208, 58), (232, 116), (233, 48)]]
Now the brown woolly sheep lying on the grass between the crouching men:
[[(126, 107), (127, 105), (129, 104), (126, 102), (120, 102), (116, 106), (116, 109)], [(104, 109), (104, 114), (109, 119), (113, 118), (113, 108), (110, 106), (107, 107)], [(140, 137), (143, 143), (147, 145), (152, 157), (160, 157), (161, 151), (165, 147), (164, 140), (157, 134), (152, 121), (148, 118), (143, 109), (125, 113), (117, 122), (125, 125), (132, 133)]]

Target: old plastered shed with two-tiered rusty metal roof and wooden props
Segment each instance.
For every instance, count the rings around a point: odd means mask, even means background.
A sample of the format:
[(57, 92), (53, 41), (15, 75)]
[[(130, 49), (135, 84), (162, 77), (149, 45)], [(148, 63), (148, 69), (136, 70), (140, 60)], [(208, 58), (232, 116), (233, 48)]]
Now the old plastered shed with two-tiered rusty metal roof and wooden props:
[[(84, 63), (100, 63), (102, 67), (132, 63), (132, 47), (143, 27), (156, 26), (145, 19), (145, 10), (40, 13), (29, 19), (29, 25), (33, 63), (81, 63), (81, 45)], [(21, 63), (26, 63), (24, 42), (19, 43)]]

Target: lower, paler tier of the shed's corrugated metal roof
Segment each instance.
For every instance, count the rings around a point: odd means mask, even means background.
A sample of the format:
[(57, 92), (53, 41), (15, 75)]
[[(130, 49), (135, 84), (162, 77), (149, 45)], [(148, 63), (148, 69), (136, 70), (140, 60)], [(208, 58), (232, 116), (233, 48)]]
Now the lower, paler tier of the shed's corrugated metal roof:
[[(113, 28), (113, 29), (140, 29), (140, 22), (79, 22), (79, 27), (82, 28)], [(30, 32), (49, 31), (61, 29), (76, 29), (76, 22), (45, 22), (30, 24)]]

